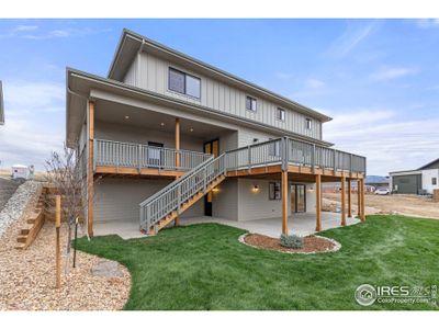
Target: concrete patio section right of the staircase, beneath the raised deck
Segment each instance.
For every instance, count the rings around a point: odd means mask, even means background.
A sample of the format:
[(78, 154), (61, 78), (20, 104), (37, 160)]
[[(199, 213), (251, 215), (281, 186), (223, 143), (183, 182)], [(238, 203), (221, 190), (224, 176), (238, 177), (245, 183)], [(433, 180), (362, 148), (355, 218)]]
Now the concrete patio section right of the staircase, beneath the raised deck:
[[(282, 232), (282, 219), (267, 218), (267, 219), (255, 219), (246, 222), (228, 220), (215, 217), (193, 217), (193, 218), (181, 218), (181, 225), (191, 225), (196, 223), (218, 223), (228, 226), (246, 229), (250, 232), (257, 232), (272, 238), (279, 238)], [(346, 219), (347, 225), (353, 225), (360, 223), (360, 219), (348, 217)], [(299, 235), (302, 237), (315, 234), (316, 218), (315, 214), (302, 213), (294, 214), (289, 217), (289, 232)], [(322, 213), (322, 230), (336, 228), (341, 226), (341, 214), (339, 213)]]

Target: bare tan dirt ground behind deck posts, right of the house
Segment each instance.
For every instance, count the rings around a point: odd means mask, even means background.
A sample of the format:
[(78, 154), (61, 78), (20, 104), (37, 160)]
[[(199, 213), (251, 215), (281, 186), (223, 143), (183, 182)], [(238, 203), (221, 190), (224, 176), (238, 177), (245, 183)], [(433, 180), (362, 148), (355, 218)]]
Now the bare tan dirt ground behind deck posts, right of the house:
[[(339, 193), (324, 193), (323, 208), (335, 211), (340, 208)], [(419, 195), (392, 194), (375, 195), (365, 194), (365, 214), (401, 214), (415, 217), (428, 217), (439, 219), (439, 203)], [(352, 209), (357, 212), (357, 194), (352, 194)]]

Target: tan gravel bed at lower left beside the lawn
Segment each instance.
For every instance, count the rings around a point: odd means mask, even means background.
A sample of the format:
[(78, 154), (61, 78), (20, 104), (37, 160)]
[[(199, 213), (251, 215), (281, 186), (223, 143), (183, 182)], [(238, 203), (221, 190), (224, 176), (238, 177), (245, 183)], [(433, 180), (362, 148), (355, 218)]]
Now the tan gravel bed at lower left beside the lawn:
[[(93, 276), (91, 269), (102, 259), (78, 251), (77, 268), (70, 265), (68, 274), (63, 269), (61, 288), (56, 290), (54, 224), (46, 222), (29, 249), (16, 250), (21, 222), (12, 223), (0, 239), (0, 310), (123, 308), (131, 287), (131, 276), (124, 266), (119, 264), (120, 277)], [(65, 250), (65, 226), (61, 227), (61, 243)]]

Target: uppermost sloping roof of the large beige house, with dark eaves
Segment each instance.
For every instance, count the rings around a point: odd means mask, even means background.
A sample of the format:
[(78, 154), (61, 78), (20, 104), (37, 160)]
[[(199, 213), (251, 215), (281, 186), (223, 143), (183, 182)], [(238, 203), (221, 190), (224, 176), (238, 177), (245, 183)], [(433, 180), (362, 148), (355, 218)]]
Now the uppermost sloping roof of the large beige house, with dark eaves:
[(109, 70), (108, 78), (122, 81), (134, 57), (142, 49), (145, 49), (146, 52), (149, 52), (151, 54), (156, 54), (157, 56), (168, 58), (171, 61), (181, 63), (184, 66), (188, 66), (194, 70), (199, 70), (204, 75), (214, 77), (215, 79), (225, 81), (228, 84), (236, 86), (244, 90), (250, 90), (256, 95), (264, 97), (272, 102), (278, 103), (279, 106), (292, 107), (294, 109), (294, 111), (317, 118), (322, 122), (328, 122), (331, 120), (331, 117), (323, 113), (299, 104), (288, 98), (284, 98), (252, 82), (249, 82), (245, 79), (241, 79), (237, 76), (234, 76), (183, 53), (169, 48), (162, 44), (159, 44), (153, 39), (149, 39), (126, 29), (123, 30)]

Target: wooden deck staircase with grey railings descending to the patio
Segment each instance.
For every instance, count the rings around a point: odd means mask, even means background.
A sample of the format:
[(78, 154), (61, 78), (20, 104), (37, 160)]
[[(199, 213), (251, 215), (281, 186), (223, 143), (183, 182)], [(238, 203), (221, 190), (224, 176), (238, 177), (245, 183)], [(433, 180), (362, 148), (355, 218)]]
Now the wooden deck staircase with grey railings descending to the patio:
[(140, 230), (156, 235), (226, 178), (225, 154), (187, 172), (140, 203)]

